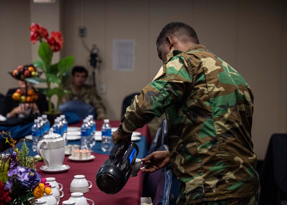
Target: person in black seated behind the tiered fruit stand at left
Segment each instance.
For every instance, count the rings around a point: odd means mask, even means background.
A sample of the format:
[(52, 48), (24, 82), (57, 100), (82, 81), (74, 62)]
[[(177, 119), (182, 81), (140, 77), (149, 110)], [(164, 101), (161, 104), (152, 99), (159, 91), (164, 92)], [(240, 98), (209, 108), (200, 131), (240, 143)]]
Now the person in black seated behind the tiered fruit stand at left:
[(0, 104), (0, 114), (5, 117), (20, 117), (25, 116), (24, 110), (27, 107), (31, 108), (31, 114), (38, 114), (43, 113), (44, 111), (48, 111), (48, 101), (46, 100), (46, 96), (43, 94), (38, 93), (32, 86), (31, 83), (27, 82), (27, 88), (24, 81), (19, 80), (19, 86), (20, 90), (22, 90), (22, 93), (26, 93), (26, 89), (28, 92), (34, 92), (38, 95), (38, 100), (33, 103), (23, 103), (22, 106), (19, 105), (19, 102), (15, 101), (12, 98), (12, 94), (16, 92), (17, 88), (8, 90), (6, 96), (3, 98), (1, 104)]

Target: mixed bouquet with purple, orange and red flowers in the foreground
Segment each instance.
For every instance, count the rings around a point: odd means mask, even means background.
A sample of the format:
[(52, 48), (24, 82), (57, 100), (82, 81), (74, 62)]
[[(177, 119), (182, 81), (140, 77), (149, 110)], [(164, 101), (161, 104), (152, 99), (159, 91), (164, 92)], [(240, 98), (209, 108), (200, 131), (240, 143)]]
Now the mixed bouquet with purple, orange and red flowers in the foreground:
[(1, 137), (6, 138), (11, 148), (6, 150), (0, 157), (0, 205), (6, 204), (31, 204), (36, 198), (51, 194), (51, 185), (46, 183), (45, 178), (36, 172), (36, 163), (42, 160), (28, 156), (29, 149), (23, 140), (22, 148), (19, 151), (16, 140), (13, 140), (10, 133), (4, 131)]

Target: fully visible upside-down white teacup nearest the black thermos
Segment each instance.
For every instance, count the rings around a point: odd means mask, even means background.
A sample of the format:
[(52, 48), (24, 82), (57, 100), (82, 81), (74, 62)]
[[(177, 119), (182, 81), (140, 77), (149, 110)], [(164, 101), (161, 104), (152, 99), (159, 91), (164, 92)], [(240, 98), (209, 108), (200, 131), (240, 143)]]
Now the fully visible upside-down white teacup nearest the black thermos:
[(92, 187), (92, 182), (90, 182), (90, 186), (88, 182), (90, 181), (87, 181), (84, 175), (75, 175), (70, 185), (70, 192), (88, 192)]

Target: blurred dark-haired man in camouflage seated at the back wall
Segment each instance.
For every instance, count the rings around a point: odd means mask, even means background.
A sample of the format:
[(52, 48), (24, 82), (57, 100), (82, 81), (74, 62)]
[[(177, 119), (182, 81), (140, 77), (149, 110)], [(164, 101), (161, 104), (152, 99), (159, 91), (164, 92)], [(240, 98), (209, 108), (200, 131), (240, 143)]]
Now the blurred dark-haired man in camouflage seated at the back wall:
[[(90, 85), (86, 85), (85, 82), (88, 77), (88, 71), (81, 66), (76, 66), (72, 69), (72, 84), (69, 84), (68, 86), (65, 86), (66, 90), (69, 90), (70, 93), (66, 94), (62, 102), (65, 104), (68, 101), (75, 100), (75, 104), (78, 105), (78, 101), (84, 102), (86, 104), (89, 104), (95, 108), (95, 114), (97, 117), (95, 117), (97, 120), (105, 119), (106, 117), (106, 108), (102, 103), (102, 100), (100, 96), (97, 93), (97, 90)], [(73, 103), (71, 103), (73, 106)], [(65, 106), (66, 108), (63, 108), (63, 110), (72, 110), (72, 107)], [(84, 104), (80, 104), (82, 109), (85, 109), (87, 106)], [(61, 109), (61, 107), (60, 107)], [(78, 106), (74, 107), (75, 111), (78, 109)], [(62, 111), (63, 111), (62, 110)], [(84, 112), (84, 110), (82, 110)], [(77, 112), (76, 112), (77, 113)], [(86, 114), (85, 114), (86, 115)], [(85, 116), (84, 116), (85, 117)]]

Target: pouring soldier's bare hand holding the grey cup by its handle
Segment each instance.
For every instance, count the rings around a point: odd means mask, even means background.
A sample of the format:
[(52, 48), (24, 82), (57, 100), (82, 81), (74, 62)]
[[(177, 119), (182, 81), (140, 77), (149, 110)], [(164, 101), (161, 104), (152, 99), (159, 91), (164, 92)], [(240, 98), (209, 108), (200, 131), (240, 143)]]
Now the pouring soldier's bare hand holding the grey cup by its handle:
[(142, 159), (142, 164), (147, 165), (142, 171), (153, 173), (159, 169), (166, 167), (169, 164), (168, 151), (155, 151)]

